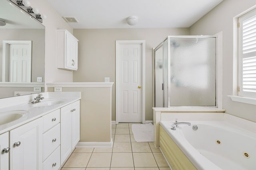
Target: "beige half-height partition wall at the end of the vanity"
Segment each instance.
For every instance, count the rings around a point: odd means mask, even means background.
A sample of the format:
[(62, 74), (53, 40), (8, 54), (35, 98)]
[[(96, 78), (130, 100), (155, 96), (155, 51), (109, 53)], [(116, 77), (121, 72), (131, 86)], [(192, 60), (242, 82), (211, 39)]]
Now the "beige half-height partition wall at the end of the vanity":
[(80, 142), (111, 142), (111, 90), (112, 87), (62, 87), (62, 92), (81, 92)]

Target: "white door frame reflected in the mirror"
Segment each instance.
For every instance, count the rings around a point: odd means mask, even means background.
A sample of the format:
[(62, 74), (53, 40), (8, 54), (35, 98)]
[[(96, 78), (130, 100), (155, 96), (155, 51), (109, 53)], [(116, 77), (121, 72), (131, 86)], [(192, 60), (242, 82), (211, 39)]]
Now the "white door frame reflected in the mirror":
[[(2, 82), (9, 82), (9, 45), (20, 44), (29, 45), (30, 60), (32, 64), (32, 41), (20, 41), (20, 40), (4, 40), (3, 41), (3, 60), (2, 60)], [(31, 82), (31, 66), (30, 66), (30, 82)]]

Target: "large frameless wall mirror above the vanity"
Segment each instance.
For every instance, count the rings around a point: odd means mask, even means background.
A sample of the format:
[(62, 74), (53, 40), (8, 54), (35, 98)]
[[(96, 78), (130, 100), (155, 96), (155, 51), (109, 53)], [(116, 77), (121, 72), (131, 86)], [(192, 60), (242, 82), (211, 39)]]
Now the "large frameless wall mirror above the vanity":
[[(0, 26), (0, 98), (43, 92), (44, 25), (8, 0), (0, 1), (0, 18), (6, 22)], [(30, 42), (31, 49), (24, 50), (20, 46), (24, 42)], [(24, 54), (30, 54), (28, 62), (13, 59)], [(42, 83), (37, 82), (38, 77)]]

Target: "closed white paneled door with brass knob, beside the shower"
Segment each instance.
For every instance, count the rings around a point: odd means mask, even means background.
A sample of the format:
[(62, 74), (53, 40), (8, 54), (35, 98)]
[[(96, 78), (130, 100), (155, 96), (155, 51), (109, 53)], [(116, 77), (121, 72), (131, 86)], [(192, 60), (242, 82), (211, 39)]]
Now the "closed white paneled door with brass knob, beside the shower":
[(116, 121), (142, 122), (143, 44), (119, 43), (116, 52)]

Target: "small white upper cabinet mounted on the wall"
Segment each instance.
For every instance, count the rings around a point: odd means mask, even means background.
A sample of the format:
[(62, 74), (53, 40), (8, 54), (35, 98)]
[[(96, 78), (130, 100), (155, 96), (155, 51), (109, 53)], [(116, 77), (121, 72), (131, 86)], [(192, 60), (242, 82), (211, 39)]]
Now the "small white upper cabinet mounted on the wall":
[(66, 29), (57, 30), (58, 68), (78, 69), (78, 39)]

